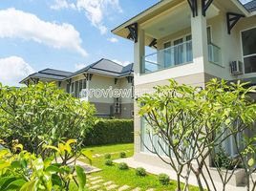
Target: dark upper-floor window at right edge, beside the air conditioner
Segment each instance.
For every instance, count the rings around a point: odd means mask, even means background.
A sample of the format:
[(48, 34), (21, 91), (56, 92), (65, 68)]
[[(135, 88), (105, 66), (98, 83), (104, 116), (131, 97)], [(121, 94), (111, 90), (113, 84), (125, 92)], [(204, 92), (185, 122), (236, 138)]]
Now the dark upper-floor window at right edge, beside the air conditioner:
[(242, 32), (245, 74), (256, 73), (256, 28)]

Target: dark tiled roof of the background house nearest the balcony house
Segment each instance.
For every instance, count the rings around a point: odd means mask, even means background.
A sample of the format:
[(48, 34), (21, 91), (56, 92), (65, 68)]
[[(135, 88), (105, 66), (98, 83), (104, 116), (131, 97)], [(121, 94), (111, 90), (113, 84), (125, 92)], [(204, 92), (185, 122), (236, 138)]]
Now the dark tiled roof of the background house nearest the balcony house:
[(133, 64), (122, 66), (116, 62), (102, 58), (95, 63), (69, 75), (67, 78), (72, 78), (77, 74), (90, 73), (90, 74), (103, 74), (115, 77), (133, 74)]

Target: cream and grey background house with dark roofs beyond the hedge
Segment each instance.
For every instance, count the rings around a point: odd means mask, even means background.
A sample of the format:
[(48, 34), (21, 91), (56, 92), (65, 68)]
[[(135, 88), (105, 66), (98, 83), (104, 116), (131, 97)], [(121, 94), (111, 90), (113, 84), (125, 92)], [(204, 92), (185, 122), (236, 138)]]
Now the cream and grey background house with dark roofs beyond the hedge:
[(133, 64), (121, 66), (100, 59), (75, 73), (46, 69), (29, 75), (20, 83), (55, 82), (67, 93), (95, 104), (98, 117), (132, 118), (133, 73)]

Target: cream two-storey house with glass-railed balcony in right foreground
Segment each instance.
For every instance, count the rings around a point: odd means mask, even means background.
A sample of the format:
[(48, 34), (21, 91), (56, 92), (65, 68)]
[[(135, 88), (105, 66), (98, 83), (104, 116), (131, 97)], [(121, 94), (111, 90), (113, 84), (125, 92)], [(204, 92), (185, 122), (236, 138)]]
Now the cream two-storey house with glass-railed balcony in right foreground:
[[(238, 0), (162, 0), (112, 32), (135, 43), (135, 96), (140, 89), (168, 84), (169, 78), (203, 88), (213, 77), (256, 84), (255, 0), (245, 6)], [(135, 132), (147, 136), (145, 126), (135, 115)], [(231, 139), (224, 148), (230, 156), (236, 155)], [(134, 159), (166, 167), (149, 154), (139, 134), (135, 134)]]

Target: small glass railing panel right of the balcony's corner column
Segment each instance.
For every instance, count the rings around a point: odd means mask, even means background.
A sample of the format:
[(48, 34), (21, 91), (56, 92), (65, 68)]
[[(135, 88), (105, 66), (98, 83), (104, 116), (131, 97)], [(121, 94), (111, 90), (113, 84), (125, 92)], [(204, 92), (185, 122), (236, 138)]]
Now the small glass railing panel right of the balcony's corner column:
[(212, 43), (208, 44), (208, 59), (209, 62), (223, 66), (221, 48)]

